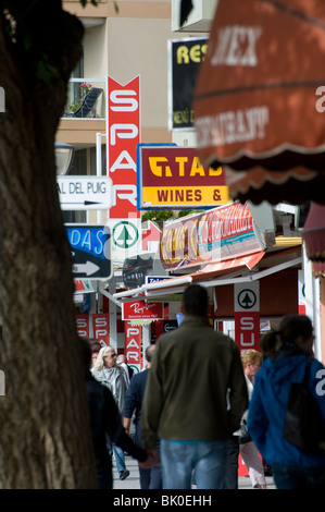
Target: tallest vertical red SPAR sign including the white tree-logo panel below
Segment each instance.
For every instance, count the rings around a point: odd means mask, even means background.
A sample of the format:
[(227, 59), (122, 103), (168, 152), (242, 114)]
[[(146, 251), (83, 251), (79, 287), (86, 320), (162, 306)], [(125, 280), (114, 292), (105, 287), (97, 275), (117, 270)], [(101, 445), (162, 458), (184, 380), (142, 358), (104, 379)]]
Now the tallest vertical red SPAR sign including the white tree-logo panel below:
[[(137, 209), (137, 144), (140, 142), (140, 78), (121, 85), (108, 76), (107, 164), (112, 180), (113, 259), (125, 259), (141, 246)], [(114, 254), (115, 252), (115, 254)], [(115, 256), (115, 257), (114, 257)]]

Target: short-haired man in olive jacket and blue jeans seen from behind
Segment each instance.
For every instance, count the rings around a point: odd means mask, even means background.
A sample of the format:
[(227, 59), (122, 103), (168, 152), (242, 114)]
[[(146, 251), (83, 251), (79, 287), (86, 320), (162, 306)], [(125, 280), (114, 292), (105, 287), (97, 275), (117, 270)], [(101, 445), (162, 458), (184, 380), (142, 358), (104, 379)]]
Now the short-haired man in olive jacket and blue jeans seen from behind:
[(198, 489), (222, 489), (226, 439), (248, 406), (242, 365), (234, 340), (209, 325), (207, 290), (188, 287), (183, 303), (185, 319), (153, 353), (142, 443), (154, 453), (160, 436), (164, 489), (190, 489), (193, 471)]

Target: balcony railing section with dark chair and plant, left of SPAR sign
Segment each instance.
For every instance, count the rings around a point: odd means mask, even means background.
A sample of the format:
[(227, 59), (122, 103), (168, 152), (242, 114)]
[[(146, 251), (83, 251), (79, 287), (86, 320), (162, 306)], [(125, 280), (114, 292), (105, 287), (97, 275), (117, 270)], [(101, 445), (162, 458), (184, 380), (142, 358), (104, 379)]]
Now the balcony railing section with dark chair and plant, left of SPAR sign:
[(71, 78), (63, 118), (104, 119), (105, 81), (97, 78)]

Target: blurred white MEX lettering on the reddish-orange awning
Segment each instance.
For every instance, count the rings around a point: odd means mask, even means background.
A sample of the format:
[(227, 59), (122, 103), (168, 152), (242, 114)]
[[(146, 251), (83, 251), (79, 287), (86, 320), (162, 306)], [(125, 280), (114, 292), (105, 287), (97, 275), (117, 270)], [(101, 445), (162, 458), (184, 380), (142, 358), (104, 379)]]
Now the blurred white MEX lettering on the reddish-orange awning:
[(257, 42), (260, 26), (225, 26), (217, 32), (216, 46), (211, 51), (211, 65), (257, 66)]

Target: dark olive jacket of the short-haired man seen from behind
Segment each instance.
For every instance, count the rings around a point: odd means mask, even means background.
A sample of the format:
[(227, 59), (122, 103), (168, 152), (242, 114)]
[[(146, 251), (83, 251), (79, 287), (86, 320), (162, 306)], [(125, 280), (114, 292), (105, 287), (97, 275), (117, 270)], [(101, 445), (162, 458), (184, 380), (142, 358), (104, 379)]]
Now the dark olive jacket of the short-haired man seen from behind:
[[(228, 398), (228, 400), (227, 400)], [(229, 406), (228, 406), (229, 405)], [(248, 393), (239, 350), (198, 316), (161, 336), (141, 411), (142, 440), (226, 439), (240, 426)]]

